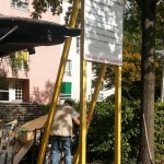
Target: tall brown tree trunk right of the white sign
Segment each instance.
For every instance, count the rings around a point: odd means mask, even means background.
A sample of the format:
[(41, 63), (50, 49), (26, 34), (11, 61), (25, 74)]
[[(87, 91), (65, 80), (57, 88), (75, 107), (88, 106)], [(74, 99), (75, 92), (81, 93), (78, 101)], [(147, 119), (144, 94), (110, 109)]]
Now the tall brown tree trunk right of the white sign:
[(142, 164), (154, 163), (155, 1), (140, 1), (142, 12), (140, 162)]

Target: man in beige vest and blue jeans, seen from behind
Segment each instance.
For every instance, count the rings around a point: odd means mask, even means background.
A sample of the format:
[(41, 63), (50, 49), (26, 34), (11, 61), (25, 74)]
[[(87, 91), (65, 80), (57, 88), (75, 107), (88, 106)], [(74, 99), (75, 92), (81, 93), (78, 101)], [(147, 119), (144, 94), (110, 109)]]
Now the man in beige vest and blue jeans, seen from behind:
[(65, 164), (72, 164), (71, 161), (71, 136), (72, 120), (80, 125), (79, 114), (72, 107), (73, 101), (66, 99), (63, 105), (57, 107), (54, 124), (51, 127), (51, 164), (59, 164), (60, 149), (63, 147)]

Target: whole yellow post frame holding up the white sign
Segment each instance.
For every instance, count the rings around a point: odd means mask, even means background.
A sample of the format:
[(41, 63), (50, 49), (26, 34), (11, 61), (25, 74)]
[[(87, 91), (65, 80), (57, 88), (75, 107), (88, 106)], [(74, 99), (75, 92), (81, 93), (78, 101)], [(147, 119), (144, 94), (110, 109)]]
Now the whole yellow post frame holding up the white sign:
[[(70, 27), (75, 26), (77, 22), (77, 16), (80, 8), (80, 0), (74, 0), (73, 1), (73, 10), (71, 13), (70, 17)], [(81, 2), (81, 11), (82, 11), (82, 22), (81, 22), (81, 27), (82, 30), (84, 28), (84, 0)], [(50, 128), (52, 125), (55, 112), (56, 112), (56, 105), (59, 96), (59, 89), (61, 86), (62, 78), (63, 78), (63, 72), (65, 72), (65, 67), (66, 62), (68, 59), (68, 54), (70, 49), (70, 44), (71, 44), (71, 37), (67, 38), (65, 46), (63, 46), (63, 51), (61, 56), (61, 61), (57, 74), (57, 82), (55, 84), (54, 89), (54, 95), (52, 95), (52, 101), (50, 104), (49, 108), (49, 114), (45, 127), (45, 132), (44, 132), (44, 138), (38, 155), (38, 161), (37, 164), (43, 164), (46, 149), (47, 149), (47, 143), (49, 139), (49, 133), (50, 133)], [(78, 152), (75, 155), (74, 164), (85, 164), (86, 161), (86, 132), (90, 127), (90, 121), (86, 125), (86, 61), (84, 60), (84, 31), (82, 31), (81, 34), (81, 72), (80, 72), (80, 89), (82, 90), (80, 92), (80, 144), (78, 147)], [(94, 95), (91, 102), (90, 110), (87, 117), (92, 117), (94, 107), (96, 104), (96, 99), (98, 96), (98, 92), (101, 90), (102, 81), (105, 74), (106, 66), (102, 65), (102, 69), (98, 75), (98, 80), (96, 83), (96, 87), (94, 91)], [(121, 67), (116, 67), (116, 94), (115, 94), (115, 164), (120, 164), (120, 140), (121, 140)]]

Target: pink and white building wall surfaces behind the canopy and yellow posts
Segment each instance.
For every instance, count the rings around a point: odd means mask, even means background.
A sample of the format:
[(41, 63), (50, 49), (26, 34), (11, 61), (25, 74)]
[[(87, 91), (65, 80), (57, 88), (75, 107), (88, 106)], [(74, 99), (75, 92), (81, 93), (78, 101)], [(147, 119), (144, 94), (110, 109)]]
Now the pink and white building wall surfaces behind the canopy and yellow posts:
[[(30, 0), (32, 3), (32, 0)], [(66, 7), (67, 3), (65, 3)], [(0, 14), (21, 16), (21, 17), (31, 17), (31, 12), (33, 11), (32, 4), (30, 4), (30, 10), (24, 11), (20, 9), (14, 9), (11, 7), (11, 0), (0, 0)], [(43, 20), (65, 24), (63, 15), (54, 16), (50, 12), (44, 13), (42, 16)], [(30, 91), (30, 95), (25, 94), (25, 101), (36, 101), (40, 104), (47, 104), (50, 102), (51, 94), (54, 92), (54, 84), (56, 82), (60, 57), (62, 54), (62, 45), (60, 46), (50, 46), (50, 47), (37, 47), (35, 48), (35, 54), (30, 56), (30, 71), (19, 71), (19, 79), (26, 80), (25, 91)], [(63, 75), (63, 82), (70, 82), (71, 87), (71, 98), (77, 102), (80, 99), (80, 54), (77, 51), (77, 38), (72, 38), (71, 48), (69, 52), (68, 60), (72, 61), (71, 75)], [(91, 62), (87, 62), (87, 95), (89, 98), (91, 95)], [(12, 72), (9, 69), (8, 78), (10, 78), (9, 91), (11, 93), (10, 101), (13, 101), (14, 90), (13, 85), (15, 79), (12, 77)]]

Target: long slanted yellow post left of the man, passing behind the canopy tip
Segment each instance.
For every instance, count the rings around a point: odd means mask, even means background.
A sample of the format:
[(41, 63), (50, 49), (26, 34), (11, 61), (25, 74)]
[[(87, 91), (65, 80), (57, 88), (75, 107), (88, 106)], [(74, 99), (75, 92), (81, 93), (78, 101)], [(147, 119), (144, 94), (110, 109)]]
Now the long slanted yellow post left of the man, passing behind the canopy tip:
[[(69, 22), (70, 27), (75, 26), (79, 8), (80, 8), (80, 0), (74, 0), (73, 1), (73, 10), (71, 13), (70, 22)], [(52, 95), (52, 99), (51, 99), (51, 104), (50, 104), (50, 108), (49, 108), (49, 114), (48, 114), (48, 118), (47, 118), (47, 122), (46, 122), (46, 127), (45, 127), (44, 138), (43, 138), (43, 142), (42, 142), (42, 148), (39, 150), (37, 164), (43, 164), (43, 162), (44, 162), (47, 143), (48, 143), (48, 139), (49, 139), (49, 133), (50, 133), (54, 115), (55, 115), (55, 110), (56, 110), (56, 105), (57, 105), (57, 101), (58, 101), (58, 96), (59, 96), (59, 90), (61, 86), (65, 67), (66, 67), (66, 62), (68, 59), (70, 45), (71, 45), (71, 37), (67, 38), (65, 46), (63, 46), (61, 61), (60, 61), (60, 66), (59, 66), (58, 74), (57, 74), (57, 82), (56, 82), (55, 89), (54, 89), (54, 95)]]

